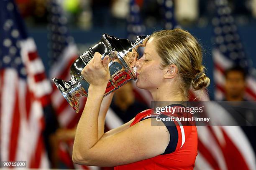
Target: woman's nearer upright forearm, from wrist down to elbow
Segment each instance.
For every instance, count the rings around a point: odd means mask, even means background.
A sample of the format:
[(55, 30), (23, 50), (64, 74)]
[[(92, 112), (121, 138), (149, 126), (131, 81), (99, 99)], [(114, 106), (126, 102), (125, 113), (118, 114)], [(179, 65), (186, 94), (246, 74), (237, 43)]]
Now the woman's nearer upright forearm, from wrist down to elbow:
[(78, 122), (74, 139), (73, 155), (79, 157), (77, 159), (82, 159), (82, 155), (86, 154), (98, 141), (98, 116), (104, 92), (103, 86), (89, 87), (87, 102)]

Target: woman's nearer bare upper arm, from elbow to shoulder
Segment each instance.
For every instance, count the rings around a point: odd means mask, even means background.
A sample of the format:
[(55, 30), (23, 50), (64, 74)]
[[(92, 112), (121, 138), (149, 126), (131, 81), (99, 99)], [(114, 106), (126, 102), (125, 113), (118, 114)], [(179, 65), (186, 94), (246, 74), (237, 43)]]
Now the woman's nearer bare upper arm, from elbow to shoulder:
[(164, 124), (152, 126), (151, 119), (146, 119), (120, 133), (101, 138), (90, 149), (85, 149), (83, 145), (76, 152), (73, 149), (72, 158), (74, 163), (82, 165), (125, 165), (164, 153), (169, 140), (170, 135)]

